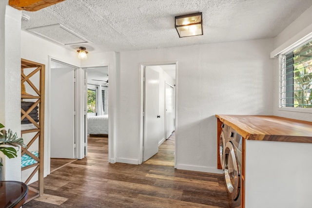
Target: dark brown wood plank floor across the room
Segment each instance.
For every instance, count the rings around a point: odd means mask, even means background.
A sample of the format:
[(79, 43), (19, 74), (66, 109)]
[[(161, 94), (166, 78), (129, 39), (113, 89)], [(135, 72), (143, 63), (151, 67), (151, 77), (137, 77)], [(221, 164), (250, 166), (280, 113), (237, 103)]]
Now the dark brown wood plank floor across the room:
[(142, 165), (110, 164), (107, 138), (88, 138), (88, 156), (53, 159), (44, 194), (23, 208), (228, 208), (224, 176), (174, 169), (174, 134)]

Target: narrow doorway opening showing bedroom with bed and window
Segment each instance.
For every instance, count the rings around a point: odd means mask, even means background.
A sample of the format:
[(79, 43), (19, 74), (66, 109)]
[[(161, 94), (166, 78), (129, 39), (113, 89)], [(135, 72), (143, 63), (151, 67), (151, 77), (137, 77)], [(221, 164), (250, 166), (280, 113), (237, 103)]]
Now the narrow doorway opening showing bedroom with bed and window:
[(108, 66), (84, 68), (87, 77), (86, 157), (108, 162)]

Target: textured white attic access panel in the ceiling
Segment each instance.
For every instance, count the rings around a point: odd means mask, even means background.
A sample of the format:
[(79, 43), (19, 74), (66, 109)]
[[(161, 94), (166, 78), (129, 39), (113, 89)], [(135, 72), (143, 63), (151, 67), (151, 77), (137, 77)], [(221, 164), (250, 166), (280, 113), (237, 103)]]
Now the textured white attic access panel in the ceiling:
[(74, 31), (68, 29), (67, 27), (61, 24), (52, 24), (47, 26), (35, 27), (27, 30), (42, 38), (46, 38), (61, 45), (93, 43), (87, 38), (78, 35)]

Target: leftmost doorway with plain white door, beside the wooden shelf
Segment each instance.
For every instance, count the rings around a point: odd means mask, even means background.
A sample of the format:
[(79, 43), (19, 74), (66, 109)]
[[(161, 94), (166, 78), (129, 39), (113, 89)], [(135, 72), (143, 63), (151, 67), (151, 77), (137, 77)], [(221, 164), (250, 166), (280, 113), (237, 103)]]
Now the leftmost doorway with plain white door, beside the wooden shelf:
[(49, 65), (47, 165), (50, 173), (59, 158), (83, 158), (86, 137), (83, 70), (53, 58)]

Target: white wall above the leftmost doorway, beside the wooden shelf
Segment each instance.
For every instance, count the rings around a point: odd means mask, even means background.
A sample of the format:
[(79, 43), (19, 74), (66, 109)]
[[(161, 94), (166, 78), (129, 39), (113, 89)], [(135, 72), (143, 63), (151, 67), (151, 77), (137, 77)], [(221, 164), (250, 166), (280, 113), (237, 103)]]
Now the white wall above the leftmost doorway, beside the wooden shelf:
[[(48, 100), (48, 84), (49, 84), (49, 56), (53, 57), (56, 60), (68, 63), (74, 66), (80, 66), (80, 59), (78, 59), (77, 52), (75, 50), (67, 50), (55, 43), (44, 40), (37, 36), (34, 36), (25, 31), (21, 31), (21, 58), (39, 62), (45, 64), (45, 106), (44, 106), (44, 176), (49, 173), (49, 161), (50, 155), (48, 155), (49, 147), (49, 114), (48, 109), (50, 101)], [(19, 78), (20, 80), (20, 78)], [(22, 180), (26, 178), (25, 174), (22, 174)], [(36, 177), (35, 177), (36, 178)]]

